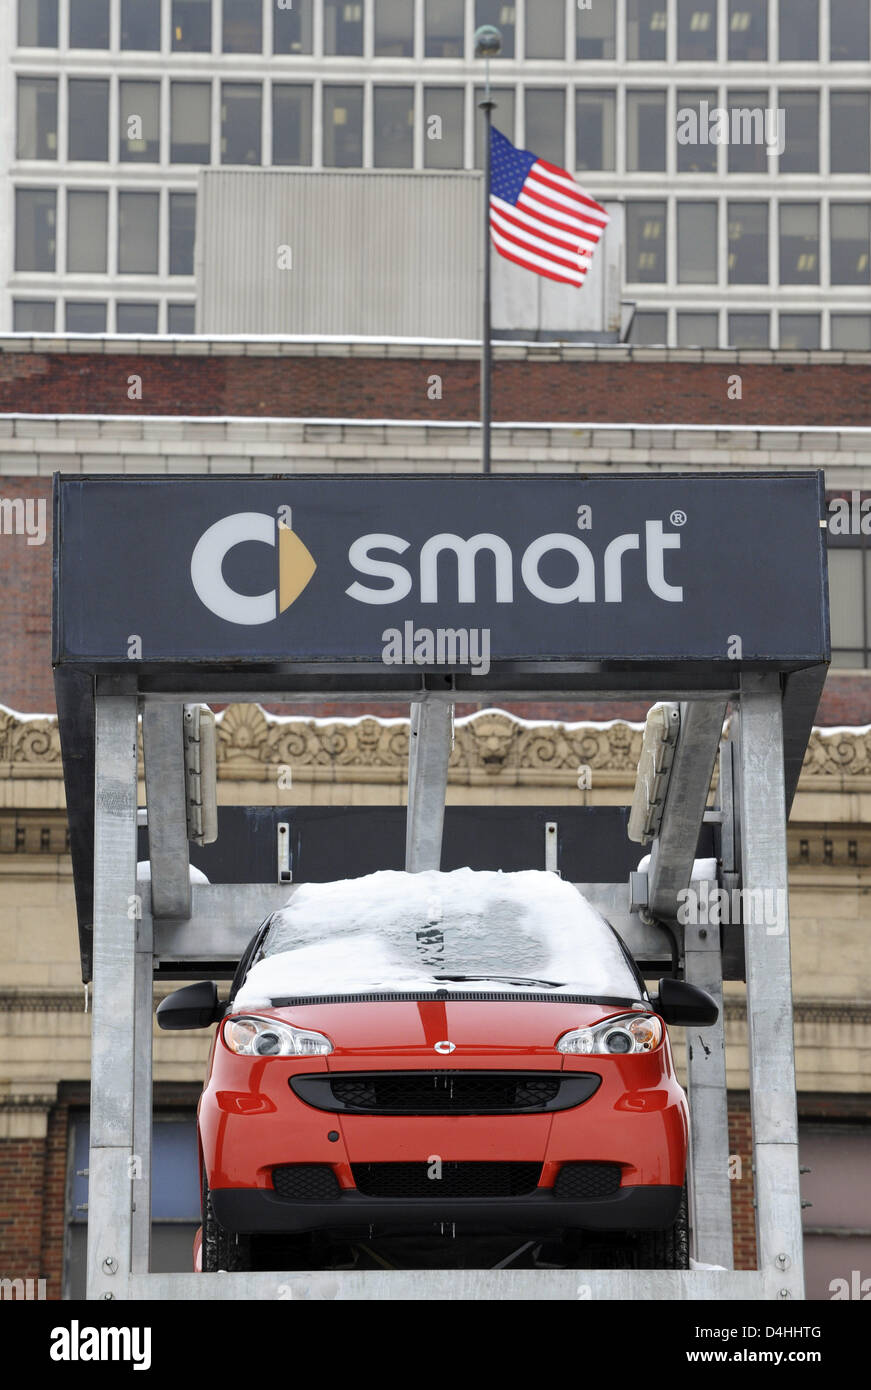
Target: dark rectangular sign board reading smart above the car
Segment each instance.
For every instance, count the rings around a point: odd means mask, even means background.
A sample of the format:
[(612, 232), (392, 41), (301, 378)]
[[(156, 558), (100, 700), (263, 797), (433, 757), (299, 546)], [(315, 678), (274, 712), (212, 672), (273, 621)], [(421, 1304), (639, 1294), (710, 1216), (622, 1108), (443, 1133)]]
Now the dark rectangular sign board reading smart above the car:
[(824, 662), (821, 475), (56, 478), (56, 663)]

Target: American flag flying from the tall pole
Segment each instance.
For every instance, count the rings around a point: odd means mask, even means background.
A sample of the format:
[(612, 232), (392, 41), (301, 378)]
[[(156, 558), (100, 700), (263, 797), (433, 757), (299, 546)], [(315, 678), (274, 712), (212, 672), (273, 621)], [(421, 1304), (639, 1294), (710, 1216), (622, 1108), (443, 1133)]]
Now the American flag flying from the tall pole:
[(490, 235), (500, 256), (565, 285), (583, 284), (608, 214), (568, 170), (490, 131)]

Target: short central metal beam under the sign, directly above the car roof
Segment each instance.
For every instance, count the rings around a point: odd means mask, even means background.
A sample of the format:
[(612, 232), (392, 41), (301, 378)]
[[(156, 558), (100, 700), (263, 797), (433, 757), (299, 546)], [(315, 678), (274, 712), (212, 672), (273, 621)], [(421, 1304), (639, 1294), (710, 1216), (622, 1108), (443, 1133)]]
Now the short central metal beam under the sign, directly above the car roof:
[(406, 870), (442, 867), (442, 830), (454, 708), (443, 701), (411, 706)]

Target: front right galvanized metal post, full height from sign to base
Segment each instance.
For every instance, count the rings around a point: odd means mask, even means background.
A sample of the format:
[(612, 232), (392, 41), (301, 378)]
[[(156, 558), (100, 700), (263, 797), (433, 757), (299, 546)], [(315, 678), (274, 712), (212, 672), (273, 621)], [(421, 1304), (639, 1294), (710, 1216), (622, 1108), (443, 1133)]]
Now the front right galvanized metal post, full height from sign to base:
[(803, 1298), (779, 677), (743, 676), (739, 717), (742, 887), (758, 1269), (771, 1297)]

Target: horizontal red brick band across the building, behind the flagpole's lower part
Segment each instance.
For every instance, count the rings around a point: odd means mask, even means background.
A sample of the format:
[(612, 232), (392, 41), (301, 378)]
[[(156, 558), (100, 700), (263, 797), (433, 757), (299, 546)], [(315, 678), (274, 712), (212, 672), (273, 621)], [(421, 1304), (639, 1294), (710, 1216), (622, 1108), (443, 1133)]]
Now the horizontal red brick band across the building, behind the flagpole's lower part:
[[(728, 378), (742, 377), (740, 400)], [(442, 399), (428, 398), (442, 377)], [(128, 377), (142, 399), (128, 399)], [(478, 420), (475, 360), (396, 357), (126, 357), (0, 353), (0, 411), (71, 414), (333, 416)], [(497, 361), (493, 418), (640, 424), (865, 425), (871, 373), (860, 366)]]

